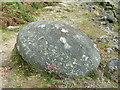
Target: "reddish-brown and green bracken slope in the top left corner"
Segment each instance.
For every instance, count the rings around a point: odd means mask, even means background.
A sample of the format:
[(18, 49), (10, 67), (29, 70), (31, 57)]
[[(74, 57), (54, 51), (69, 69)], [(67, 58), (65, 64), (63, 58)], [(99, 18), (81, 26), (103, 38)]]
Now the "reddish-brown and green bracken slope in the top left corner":
[(15, 26), (35, 21), (34, 11), (45, 6), (55, 5), (51, 2), (3, 2), (2, 3), (2, 28)]

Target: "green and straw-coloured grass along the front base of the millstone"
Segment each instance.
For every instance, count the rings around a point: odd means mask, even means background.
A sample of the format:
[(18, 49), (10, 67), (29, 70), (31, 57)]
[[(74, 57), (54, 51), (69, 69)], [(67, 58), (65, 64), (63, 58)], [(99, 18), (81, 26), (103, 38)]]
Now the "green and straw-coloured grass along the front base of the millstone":
[[(54, 73), (48, 73), (44, 70), (38, 70), (37, 67), (28, 64), (20, 56), (16, 48), (13, 49), (11, 60), (4, 62), (3, 66), (10, 66), (12, 68), (8, 80), (7, 87), (9, 88), (89, 88), (88, 84), (93, 86), (106, 87), (103, 83), (109, 81), (105, 78), (105, 81), (98, 83), (99, 73), (97, 70), (93, 70), (88, 76), (78, 77), (76, 79), (60, 78), (59, 75)], [(108, 84), (107, 84), (108, 85)], [(110, 81), (111, 85), (111, 81)], [(113, 85), (112, 85), (113, 86)], [(114, 83), (113, 87), (117, 84)]]

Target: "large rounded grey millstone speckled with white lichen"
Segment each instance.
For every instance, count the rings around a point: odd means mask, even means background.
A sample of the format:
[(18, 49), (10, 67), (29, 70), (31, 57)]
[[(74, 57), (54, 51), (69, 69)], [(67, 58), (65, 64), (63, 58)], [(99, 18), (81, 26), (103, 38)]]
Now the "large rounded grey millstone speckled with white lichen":
[(85, 76), (100, 63), (100, 55), (85, 34), (55, 21), (36, 21), (23, 27), (17, 49), (25, 61), (45, 70), (48, 66), (64, 77)]

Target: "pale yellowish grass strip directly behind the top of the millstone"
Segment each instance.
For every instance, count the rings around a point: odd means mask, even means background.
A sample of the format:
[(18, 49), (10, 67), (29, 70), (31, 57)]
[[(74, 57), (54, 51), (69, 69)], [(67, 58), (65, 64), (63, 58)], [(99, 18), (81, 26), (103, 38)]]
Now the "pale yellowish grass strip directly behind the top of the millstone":
[[(71, 8), (72, 5), (69, 6)], [(65, 7), (65, 9), (69, 9)], [(75, 28), (79, 29), (81, 32), (88, 35), (90, 38), (98, 38), (102, 35), (107, 35), (107, 33), (99, 27), (95, 22), (92, 22), (91, 19), (94, 18), (94, 13), (90, 13), (87, 10), (81, 10), (81, 12), (77, 11), (78, 9), (76, 7), (72, 8), (73, 12), (55, 12), (53, 11), (44, 11), (44, 13), (41, 14), (41, 9), (36, 11), (36, 13), (39, 13), (39, 16), (36, 17), (37, 20), (53, 20), (53, 21), (59, 21), (62, 23), (66, 23), (68, 25), (74, 26)], [(75, 10), (74, 10), (75, 9)], [(79, 12), (79, 13), (78, 13)], [(52, 13), (52, 14), (50, 14)], [(99, 28), (98, 28), (99, 27)]]

